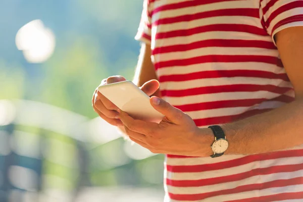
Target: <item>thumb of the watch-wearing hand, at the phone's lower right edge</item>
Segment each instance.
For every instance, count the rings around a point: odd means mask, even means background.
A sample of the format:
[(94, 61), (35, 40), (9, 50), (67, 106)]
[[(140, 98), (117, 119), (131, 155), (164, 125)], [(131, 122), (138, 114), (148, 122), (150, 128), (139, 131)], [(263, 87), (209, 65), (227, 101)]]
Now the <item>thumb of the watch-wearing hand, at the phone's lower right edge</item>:
[(171, 122), (181, 124), (184, 122), (185, 114), (166, 102), (164, 99), (153, 96), (150, 98), (150, 104), (161, 114), (166, 116)]

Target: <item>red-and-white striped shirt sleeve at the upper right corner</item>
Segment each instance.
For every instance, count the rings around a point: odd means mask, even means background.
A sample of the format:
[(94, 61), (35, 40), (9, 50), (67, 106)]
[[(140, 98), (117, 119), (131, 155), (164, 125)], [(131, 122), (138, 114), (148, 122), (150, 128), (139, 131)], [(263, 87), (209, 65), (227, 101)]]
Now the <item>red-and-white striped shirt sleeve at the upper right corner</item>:
[[(302, 0), (260, 0), (267, 32), (273, 41), (277, 32), (288, 27), (303, 26)], [(274, 41), (275, 43), (275, 41)]]

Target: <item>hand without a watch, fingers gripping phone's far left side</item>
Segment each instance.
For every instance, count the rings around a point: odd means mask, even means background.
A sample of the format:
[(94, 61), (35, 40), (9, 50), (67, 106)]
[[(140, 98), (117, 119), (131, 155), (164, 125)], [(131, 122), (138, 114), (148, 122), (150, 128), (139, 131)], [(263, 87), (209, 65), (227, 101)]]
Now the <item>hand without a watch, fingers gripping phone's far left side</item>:
[[(106, 85), (125, 80), (126, 79), (122, 76), (112, 76), (107, 79), (103, 79), (100, 85)], [(158, 88), (159, 82), (157, 80), (150, 80), (142, 85), (141, 90), (150, 96), (154, 94)], [(114, 126), (123, 126), (121, 120), (119, 119), (120, 110), (108, 98), (101, 94), (98, 91), (98, 88), (95, 89), (92, 96), (92, 107), (93, 110), (106, 122)]]

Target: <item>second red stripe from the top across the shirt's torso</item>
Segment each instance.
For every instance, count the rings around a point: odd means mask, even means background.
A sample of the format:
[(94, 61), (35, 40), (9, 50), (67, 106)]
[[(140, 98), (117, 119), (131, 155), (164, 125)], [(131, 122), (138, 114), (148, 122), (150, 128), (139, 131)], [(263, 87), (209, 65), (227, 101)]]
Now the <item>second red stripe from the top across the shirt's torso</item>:
[(206, 11), (195, 14), (188, 14), (182, 16), (174, 16), (170, 18), (162, 18), (152, 23), (153, 26), (172, 24), (177, 22), (189, 22), (197, 19), (223, 16), (247, 16), (259, 18), (259, 9), (241, 8), (241, 9), (221, 9), (215, 11)]

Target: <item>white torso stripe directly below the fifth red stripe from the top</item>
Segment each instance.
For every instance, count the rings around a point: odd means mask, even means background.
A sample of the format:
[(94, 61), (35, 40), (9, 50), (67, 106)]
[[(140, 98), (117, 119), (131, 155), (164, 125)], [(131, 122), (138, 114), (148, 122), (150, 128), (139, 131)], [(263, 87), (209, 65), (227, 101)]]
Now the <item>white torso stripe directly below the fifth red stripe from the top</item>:
[(259, 62), (237, 62), (237, 63), (203, 63), (188, 66), (174, 66), (159, 68), (159, 76), (173, 74), (189, 74), (201, 71), (220, 71), (220, 70), (259, 70), (268, 71), (276, 74), (285, 73), (285, 69), (273, 64), (264, 64)]

